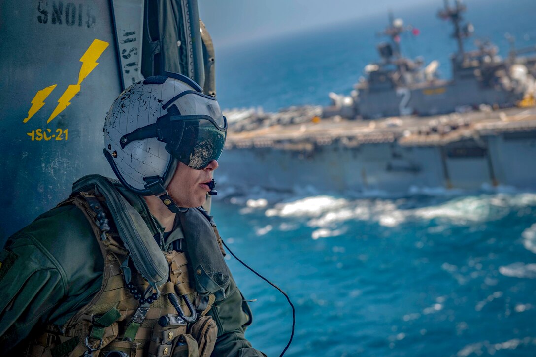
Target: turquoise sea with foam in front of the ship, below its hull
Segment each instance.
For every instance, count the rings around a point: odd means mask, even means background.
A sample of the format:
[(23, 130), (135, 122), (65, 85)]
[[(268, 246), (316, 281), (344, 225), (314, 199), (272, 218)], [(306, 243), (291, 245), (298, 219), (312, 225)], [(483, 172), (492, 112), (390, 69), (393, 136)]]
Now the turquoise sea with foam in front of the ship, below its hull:
[[(346, 198), (256, 192), (213, 202), (221, 236), (288, 293), (288, 356), (536, 355), (536, 194)], [(291, 308), (234, 258), (269, 356)]]

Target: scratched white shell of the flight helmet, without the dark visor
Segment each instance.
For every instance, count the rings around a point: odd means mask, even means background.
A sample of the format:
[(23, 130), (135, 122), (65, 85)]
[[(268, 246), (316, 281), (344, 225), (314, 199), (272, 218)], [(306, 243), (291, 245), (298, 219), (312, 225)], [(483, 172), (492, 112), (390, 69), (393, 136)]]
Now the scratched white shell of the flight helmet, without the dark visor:
[[(221, 124), (226, 129), (218, 102), (212, 96), (202, 94), (202, 89), (190, 78), (170, 72), (148, 77), (126, 88), (106, 116), (103, 129), (106, 158), (121, 183), (140, 195), (152, 195), (147, 189), (147, 177), (158, 176), (163, 187), (167, 187), (178, 160), (189, 164), (174, 151), (182, 138), (169, 138), (169, 132), (177, 130), (168, 130), (174, 128), (169, 126), (164, 127), (165, 130), (157, 128), (162, 118), (172, 115), (172, 110), (175, 110), (172, 119), (201, 116), (217, 124), (216, 127)], [(152, 129), (154, 133), (147, 134)], [(222, 139), (219, 138), (221, 146), (225, 136), (226, 130)]]

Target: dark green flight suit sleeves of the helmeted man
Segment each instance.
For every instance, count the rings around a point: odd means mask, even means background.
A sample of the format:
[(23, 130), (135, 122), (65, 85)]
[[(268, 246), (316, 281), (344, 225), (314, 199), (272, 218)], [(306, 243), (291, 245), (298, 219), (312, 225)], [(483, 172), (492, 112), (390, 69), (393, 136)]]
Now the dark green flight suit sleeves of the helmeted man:
[[(154, 227), (143, 199), (121, 189), (123, 196)], [(172, 243), (172, 234), (162, 249)], [(221, 252), (215, 252), (221, 254)], [(56, 207), (12, 235), (0, 254), (0, 351), (39, 336), (48, 323), (63, 326), (92, 299), (102, 284), (104, 259), (84, 213), (76, 206)], [(209, 311), (218, 325), (212, 356), (264, 356), (244, 337), (250, 310), (233, 279), (226, 298)]]

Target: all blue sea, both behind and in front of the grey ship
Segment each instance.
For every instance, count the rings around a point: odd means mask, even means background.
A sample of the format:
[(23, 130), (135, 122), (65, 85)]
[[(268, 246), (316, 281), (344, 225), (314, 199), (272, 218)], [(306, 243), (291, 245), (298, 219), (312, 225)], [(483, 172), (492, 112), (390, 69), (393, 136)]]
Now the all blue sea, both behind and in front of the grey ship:
[[(441, 1), (397, 11), (420, 35), (401, 48), (450, 77), (452, 26)], [(508, 55), (536, 44), (536, 2), (468, 1), (475, 38)], [(224, 108), (328, 105), (376, 61), (382, 16), (217, 50)], [(304, 19), (305, 21), (306, 19)], [(467, 41), (467, 48), (474, 48)], [(264, 169), (270, 170), (270, 167)], [(262, 171), (259, 171), (262, 175)], [(216, 175), (217, 176), (217, 175)], [(225, 193), (225, 188), (222, 187)], [(224, 196), (224, 197), (221, 197)], [(408, 197), (220, 195), (212, 213), (237, 256), (296, 307), (287, 356), (536, 355), (536, 194), (512, 190)], [(286, 299), (227, 256), (254, 311), (247, 337), (278, 356), (291, 332)]]

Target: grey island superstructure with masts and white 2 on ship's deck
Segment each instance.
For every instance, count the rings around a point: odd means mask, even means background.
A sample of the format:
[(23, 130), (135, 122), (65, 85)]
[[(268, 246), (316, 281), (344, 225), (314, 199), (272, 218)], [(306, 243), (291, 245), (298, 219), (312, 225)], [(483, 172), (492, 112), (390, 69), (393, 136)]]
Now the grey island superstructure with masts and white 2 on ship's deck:
[[(488, 41), (467, 51), (464, 41), (474, 32), (473, 25), (465, 23), (465, 5), (456, 0), (451, 6), (445, 0), (438, 17), (450, 20), (458, 50), (451, 55), (452, 78), (436, 75), (438, 62), (423, 67), (423, 60), (404, 57), (400, 53), (400, 34), (408, 31), (400, 19), (390, 17), (383, 35), (390, 41), (381, 43), (378, 52), (381, 61), (364, 68), (352, 93), (352, 110), (343, 108), (343, 101), (333, 100), (325, 116), (341, 114), (348, 118), (380, 118), (400, 115), (437, 115), (489, 105), (494, 108), (515, 106), (527, 90), (526, 71), (512, 73), (512, 62), (497, 55), (497, 48)], [(332, 99), (338, 98), (331, 94)], [(347, 101), (348, 102), (348, 101)]]

